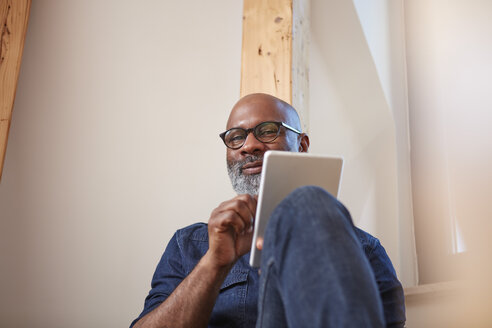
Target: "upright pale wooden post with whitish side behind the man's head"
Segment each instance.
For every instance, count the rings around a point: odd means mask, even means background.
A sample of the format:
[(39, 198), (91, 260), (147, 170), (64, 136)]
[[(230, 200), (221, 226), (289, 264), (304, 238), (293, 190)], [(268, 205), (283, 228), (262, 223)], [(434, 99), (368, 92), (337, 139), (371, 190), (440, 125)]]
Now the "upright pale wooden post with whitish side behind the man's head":
[(308, 123), (309, 0), (244, 0), (241, 97), (274, 95)]

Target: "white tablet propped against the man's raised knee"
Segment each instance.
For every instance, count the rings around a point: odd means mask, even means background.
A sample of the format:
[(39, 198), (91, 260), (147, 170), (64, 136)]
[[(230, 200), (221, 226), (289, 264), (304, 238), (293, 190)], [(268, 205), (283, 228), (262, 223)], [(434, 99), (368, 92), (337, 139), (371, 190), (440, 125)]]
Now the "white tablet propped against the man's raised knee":
[(267, 151), (263, 158), (253, 243), (249, 264), (259, 267), (261, 251), (256, 240), (263, 237), (273, 210), (295, 189), (314, 185), (338, 197), (343, 159), (309, 153)]

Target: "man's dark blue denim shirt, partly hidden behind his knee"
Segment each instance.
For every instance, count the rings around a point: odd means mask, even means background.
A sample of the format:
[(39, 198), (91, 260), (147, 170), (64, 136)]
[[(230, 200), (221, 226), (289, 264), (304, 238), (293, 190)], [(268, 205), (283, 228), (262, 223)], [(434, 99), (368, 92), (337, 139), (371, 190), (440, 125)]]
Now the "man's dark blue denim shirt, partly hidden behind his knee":
[[(403, 289), (393, 265), (378, 239), (357, 228), (356, 232), (376, 277), (387, 327), (403, 327)], [(173, 292), (207, 249), (208, 230), (205, 223), (188, 226), (174, 234), (157, 265), (144, 309), (131, 326)], [(258, 283), (258, 270), (249, 265), (249, 254), (246, 254), (236, 262), (222, 284), (208, 326), (255, 327)]]

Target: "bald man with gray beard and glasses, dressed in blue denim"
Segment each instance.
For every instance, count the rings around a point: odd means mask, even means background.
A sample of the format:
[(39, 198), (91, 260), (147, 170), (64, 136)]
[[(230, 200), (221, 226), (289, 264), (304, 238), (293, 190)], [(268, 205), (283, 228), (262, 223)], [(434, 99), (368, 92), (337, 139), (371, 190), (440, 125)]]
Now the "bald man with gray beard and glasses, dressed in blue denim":
[(249, 266), (263, 154), (306, 152), (300, 131), (280, 99), (238, 101), (220, 135), (238, 196), (208, 225), (176, 232), (134, 327), (403, 327), (403, 291), (384, 249), (320, 188), (300, 188), (278, 206), (257, 245), (261, 275)]

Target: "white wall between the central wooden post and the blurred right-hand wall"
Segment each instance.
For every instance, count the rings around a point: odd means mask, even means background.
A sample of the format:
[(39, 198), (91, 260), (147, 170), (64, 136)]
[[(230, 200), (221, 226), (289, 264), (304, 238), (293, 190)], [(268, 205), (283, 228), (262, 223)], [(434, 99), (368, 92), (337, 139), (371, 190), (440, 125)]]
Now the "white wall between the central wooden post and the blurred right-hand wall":
[(408, 286), (417, 278), (402, 2), (374, 5), (312, 1), (311, 150), (344, 156), (340, 198)]

